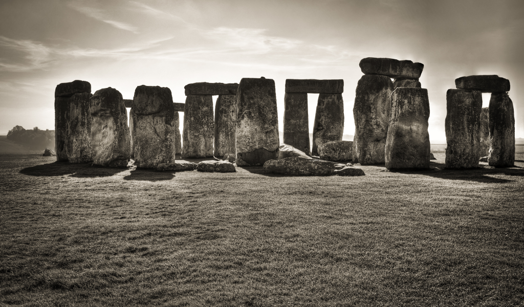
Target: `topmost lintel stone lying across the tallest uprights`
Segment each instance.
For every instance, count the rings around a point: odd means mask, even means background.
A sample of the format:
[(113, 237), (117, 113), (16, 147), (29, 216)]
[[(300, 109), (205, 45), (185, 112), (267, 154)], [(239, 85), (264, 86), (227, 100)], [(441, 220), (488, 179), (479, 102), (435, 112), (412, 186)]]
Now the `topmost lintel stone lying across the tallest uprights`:
[(365, 74), (387, 75), (394, 79), (419, 79), (424, 69), (422, 63), (387, 58), (365, 58), (358, 65)]

